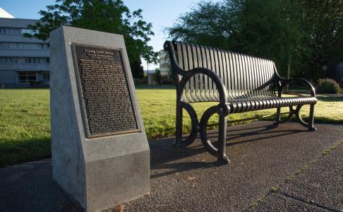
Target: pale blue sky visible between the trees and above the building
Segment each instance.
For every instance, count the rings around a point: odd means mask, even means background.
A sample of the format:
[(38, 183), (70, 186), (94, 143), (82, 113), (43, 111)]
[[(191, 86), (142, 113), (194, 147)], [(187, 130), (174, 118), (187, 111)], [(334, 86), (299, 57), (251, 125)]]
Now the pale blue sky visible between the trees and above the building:
[[(143, 20), (152, 23), (155, 36), (150, 37), (149, 45), (154, 47), (156, 52), (162, 49), (164, 41), (167, 40), (164, 28), (172, 26), (182, 13), (191, 11), (198, 2), (200, 0), (124, 0), (130, 11), (143, 9)], [(0, 0), (0, 7), (15, 18), (39, 19), (38, 12), (54, 3), (54, 0)], [(145, 61), (143, 66), (145, 70), (148, 67)], [(150, 70), (156, 67), (158, 65), (149, 64)]]

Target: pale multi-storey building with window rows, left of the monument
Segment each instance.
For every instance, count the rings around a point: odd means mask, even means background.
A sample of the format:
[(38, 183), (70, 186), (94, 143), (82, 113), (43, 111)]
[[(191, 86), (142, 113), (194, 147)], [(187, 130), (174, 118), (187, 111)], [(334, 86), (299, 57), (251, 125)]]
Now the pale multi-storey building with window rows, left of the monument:
[(49, 86), (47, 42), (23, 37), (32, 33), (28, 25), (37, 21), (0, 18), (0, 88)]

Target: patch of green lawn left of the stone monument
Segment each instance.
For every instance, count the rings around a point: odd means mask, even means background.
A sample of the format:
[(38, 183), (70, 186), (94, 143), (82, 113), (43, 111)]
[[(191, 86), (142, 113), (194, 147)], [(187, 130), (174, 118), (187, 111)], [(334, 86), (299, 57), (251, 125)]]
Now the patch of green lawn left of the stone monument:
[(0, 166), (49, 155), (49, 90), (0, 90)]

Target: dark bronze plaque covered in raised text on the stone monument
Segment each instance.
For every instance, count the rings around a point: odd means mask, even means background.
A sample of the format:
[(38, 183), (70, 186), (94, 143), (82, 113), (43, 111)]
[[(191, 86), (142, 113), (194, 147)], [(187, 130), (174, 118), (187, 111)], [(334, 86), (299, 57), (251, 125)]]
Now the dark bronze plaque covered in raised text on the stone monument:
[(121, 50), (72, 45), (88, 137), (139, 131)]

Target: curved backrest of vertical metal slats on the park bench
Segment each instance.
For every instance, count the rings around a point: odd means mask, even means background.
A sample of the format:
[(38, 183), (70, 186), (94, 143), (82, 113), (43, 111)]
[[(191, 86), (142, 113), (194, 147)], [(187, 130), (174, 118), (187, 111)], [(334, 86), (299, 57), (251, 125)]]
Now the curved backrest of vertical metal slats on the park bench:
[[(185, 42), (173, 41), (173, 47), (176, 63), (184, 71), (202, 67), (217, 73), (229, 99), (276, 95), (273, 61)], [(203, 74), (191, 78), (184, 88), (183, 98), (188, 102), (219, 100), (215, 83)]]

